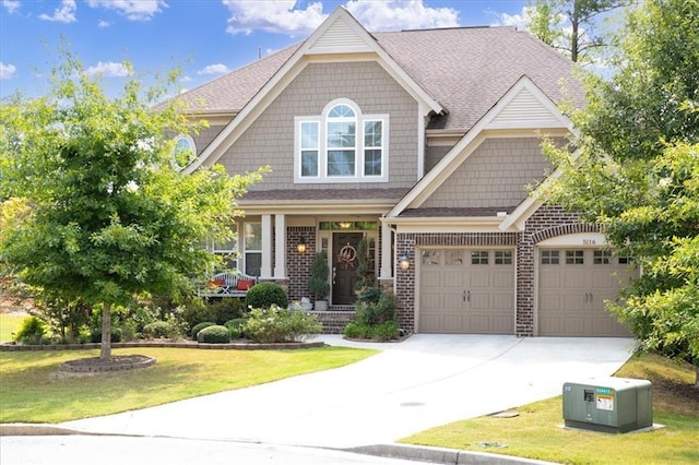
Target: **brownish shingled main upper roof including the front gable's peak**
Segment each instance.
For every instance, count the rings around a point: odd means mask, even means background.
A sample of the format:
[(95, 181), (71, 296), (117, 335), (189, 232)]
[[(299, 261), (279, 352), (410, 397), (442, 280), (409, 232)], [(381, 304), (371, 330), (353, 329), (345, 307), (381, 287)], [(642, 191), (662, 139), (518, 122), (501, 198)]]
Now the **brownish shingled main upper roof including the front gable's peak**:
[[(342, 44), (345, 44), (343, 47)], [(250, 63), (182, 94), (205, 112), (239, 112), (289, 61), (303, 55), (374, 51), (395, 64), (393, 71), (423, 98), (446, 109), (427, 129), (470, 130), (523, 75), (553, 102), (560, 102), (561, 76), (570, 78), (568, 97), (582, 104), (572, 81), (573, 63), (526, 32), (514, 27), (457, 27), (367, 33), (339, 8), (304, 43)], [(403, 83), (405, 84), (405, 83)], [(439, 112), (439, 111), (436, 111)]]

